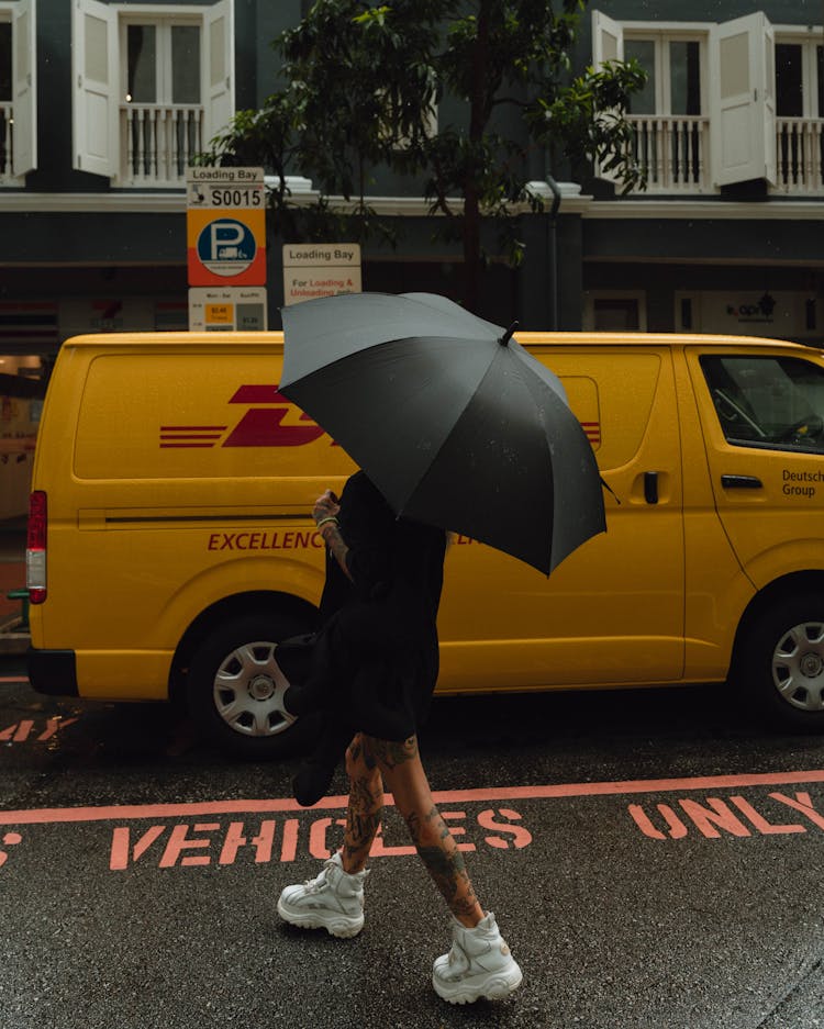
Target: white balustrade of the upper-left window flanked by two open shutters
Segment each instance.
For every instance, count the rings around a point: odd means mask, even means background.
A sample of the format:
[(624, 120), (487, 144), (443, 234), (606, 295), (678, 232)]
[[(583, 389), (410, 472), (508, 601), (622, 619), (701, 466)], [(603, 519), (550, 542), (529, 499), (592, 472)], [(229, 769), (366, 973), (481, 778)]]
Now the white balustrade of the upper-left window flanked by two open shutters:
[(203, 149), (203, 108), (127, 103), (120, 110), (121, 176), (126, 186), (182, 186)]

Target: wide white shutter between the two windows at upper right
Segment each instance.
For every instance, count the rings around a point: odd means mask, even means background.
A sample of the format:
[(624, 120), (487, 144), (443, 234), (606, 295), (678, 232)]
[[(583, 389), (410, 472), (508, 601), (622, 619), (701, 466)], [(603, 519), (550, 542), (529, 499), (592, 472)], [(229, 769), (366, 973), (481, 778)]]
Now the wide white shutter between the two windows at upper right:
[(775, 38), (762, 11), (713, 26), (710, 68), (713, 182), (775, 182)]

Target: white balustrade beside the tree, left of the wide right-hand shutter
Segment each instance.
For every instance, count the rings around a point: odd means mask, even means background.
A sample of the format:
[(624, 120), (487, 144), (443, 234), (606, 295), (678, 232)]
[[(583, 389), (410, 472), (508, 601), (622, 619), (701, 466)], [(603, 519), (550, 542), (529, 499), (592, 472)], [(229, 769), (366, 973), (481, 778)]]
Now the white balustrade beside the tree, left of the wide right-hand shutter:
[(630, 115), (633, 156), (647, 177), (649, 193), (701, 193), (710, 189), (710, 119)]

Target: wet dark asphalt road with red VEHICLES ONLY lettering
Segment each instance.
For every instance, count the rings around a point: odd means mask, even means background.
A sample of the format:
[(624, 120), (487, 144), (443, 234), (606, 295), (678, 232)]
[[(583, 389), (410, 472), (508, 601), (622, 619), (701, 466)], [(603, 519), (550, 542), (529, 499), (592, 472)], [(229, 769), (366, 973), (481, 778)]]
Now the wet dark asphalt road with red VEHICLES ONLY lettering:
[(342, 838), (286, 764), (190, 740), (163, 705), (41, 697), (0, 661), (2, 1029), (824, 1027), (824, 740), (717, 690), (443, 698), (441, 809), (524, 970), (430, 985), (447, 917), (388, 808), (353, 940), (279, 922)]

